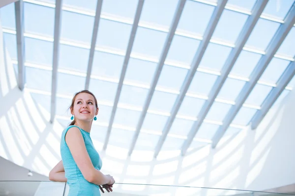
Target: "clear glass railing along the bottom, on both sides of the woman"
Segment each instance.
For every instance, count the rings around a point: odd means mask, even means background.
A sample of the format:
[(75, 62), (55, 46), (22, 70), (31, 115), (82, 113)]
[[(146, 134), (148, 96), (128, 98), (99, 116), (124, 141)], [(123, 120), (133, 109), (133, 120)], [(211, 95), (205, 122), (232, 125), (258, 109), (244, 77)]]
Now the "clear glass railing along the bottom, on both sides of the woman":
[[(0, 196), (67, 196), (65, 183), (0, 181)], [(107, 196), (295, 196), (292, 194), (188, 186), (116, 183)], [(101, 194), (102, 196), (104, 194)]]

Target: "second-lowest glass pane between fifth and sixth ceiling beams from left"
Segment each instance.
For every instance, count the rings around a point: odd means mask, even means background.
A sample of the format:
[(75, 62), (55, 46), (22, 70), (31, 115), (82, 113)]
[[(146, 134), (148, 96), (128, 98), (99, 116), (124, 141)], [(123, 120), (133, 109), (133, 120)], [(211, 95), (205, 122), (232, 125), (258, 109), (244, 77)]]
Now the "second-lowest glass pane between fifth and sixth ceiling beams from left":
[(156, 114), (147, 114), (144, 120), (142, 129), (148, 129), (153, 131), (162, 131), (168, 117), (156, 115)]

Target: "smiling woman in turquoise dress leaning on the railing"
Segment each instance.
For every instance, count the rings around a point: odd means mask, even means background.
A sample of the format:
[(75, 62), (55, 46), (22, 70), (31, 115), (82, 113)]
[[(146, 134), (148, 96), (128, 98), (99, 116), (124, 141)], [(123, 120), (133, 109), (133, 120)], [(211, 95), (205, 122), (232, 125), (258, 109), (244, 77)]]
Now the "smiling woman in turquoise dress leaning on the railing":
[(76, 93), (70, 111), (73, 122), (61, 135), (61, 161), (51, 170), (49, 179), (67, 182), (68, 196), (100, 196), (103, 188), (113, 191), (115, 180), (100, 172), (102, 162), (90, 138), (92, 121), (98, 114), (95, 96), (88, 90)]

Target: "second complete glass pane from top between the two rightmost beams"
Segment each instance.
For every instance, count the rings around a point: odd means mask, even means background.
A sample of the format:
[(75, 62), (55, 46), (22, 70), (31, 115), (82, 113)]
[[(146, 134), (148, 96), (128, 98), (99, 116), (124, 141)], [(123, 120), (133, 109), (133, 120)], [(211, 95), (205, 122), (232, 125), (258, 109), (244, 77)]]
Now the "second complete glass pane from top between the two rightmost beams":
[(245, 103), (252, 105), (261, 105), (271, 91), (272, 87), (261, 84), (256, 84), (251, 91)]

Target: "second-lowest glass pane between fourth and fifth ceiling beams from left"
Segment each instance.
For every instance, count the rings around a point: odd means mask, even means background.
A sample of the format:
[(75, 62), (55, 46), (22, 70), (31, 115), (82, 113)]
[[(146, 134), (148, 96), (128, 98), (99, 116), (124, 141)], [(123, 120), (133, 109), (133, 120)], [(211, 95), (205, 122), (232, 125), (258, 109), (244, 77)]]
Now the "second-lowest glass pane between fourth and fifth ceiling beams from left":
[(141, 112), (117, 108), (114, 124), (136, 128)]

